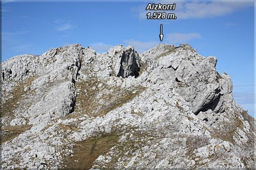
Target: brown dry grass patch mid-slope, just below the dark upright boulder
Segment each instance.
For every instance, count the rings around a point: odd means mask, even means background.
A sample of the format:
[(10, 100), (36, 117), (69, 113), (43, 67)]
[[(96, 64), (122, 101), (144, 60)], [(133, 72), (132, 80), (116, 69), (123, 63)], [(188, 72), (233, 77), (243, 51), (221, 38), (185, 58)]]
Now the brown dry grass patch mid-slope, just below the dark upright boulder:
[[(75, 110), (77, 113), (86, 114), (89, 117), (101, 117), (109, 111), (122, 106), (122, 104), (131, 101), (145, 89), (143, 87), (134, 87), (131, 90), (122, 90), (121, 87), (109, 87), (104, 83), (99, 88), (99, 83), (102, 82), (96, 78), (76, 83), (76, 88), (80, 89), (76, 98)], [(113, 92), (110, 92), (111, 90)], [(132, 93), (134, 90), (137, 92)], [(100, 99), (97, 99), (98, 94), (102, 94)]]

